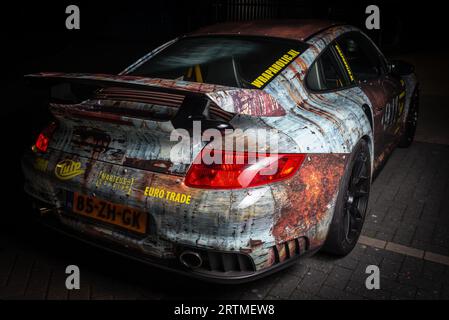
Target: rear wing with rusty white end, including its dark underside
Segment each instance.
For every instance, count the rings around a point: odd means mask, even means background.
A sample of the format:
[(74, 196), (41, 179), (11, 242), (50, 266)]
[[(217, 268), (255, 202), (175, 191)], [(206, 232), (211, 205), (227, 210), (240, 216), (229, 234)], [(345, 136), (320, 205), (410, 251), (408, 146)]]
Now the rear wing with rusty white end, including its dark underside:
[[(92, 98), (96, 89), (111, 87), (121, 90), (117, 96), (122, 101), (143, 102), (151, 95), (170, 103), (171, 97), (183, 96), (180, 112), (201, 114), (204, 107), (212, 102), (218, 108), (232, 114), (244, 114), (256, 117), (279, 117), (285, 115), (285, 109), (276, 99), (258, 89), (238, 89), (213, 84), (187, 82), (179, 80), (145, 78), (127, 75), (81, 74), (81, 73), (37, 73), (25, 76), (31, 82), (50, 88), (51, 96), (61, 101), (80, 103)], [(126, 90), (133, 94), (124, 94)], [(117, 91), (117, 90), (116, 90)], [(199, 106), (203, 106), (200, 108)]]

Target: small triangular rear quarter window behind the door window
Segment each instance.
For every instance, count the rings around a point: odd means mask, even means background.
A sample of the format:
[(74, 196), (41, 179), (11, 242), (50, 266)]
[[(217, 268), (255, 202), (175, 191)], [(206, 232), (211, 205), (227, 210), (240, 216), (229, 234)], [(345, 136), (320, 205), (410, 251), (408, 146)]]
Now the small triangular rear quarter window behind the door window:
[(313, 63), (306, 83), (314, 91), (335, 90), (349, 85), (329, 48)]

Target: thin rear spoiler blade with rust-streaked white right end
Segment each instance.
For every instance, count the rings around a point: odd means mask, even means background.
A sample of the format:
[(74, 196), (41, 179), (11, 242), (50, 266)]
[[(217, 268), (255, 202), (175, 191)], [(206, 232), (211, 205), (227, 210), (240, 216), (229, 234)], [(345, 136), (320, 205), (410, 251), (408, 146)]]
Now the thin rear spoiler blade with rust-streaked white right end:
[[(213, 84), (128, 75), (47, 72), (30, 74), (25, 77), (32, 82), (43, 82), (46, 87), (59, 86), (59, 89), (61, 86), (74, 84), (81, 87), (90, 87), (90, 93), (92, 93), (92, 87), (97, 89), (119, 87), (141, 91), (182, 94), (193, 101), (207, 98), (220, 109), (234, 114), (257, 117), (279, 117), (285, 115), (285, 109), (273, 96), (258, 89), (236, 89)], [(70, 93), (70, 90), (65, 92), (64, 95), (65, 98), (77, 98), (76, 95)]]

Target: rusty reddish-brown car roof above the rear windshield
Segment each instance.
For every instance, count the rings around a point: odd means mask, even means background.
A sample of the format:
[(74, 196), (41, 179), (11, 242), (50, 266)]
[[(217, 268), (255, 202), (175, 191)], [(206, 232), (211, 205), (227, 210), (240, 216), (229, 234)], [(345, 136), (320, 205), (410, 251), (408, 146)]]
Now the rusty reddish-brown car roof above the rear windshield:
[(308, 19), (226, 22), (203, 27), (189, 35), (247, 35), (305, 41), (314, 34), (338, 24), (329, 20)]

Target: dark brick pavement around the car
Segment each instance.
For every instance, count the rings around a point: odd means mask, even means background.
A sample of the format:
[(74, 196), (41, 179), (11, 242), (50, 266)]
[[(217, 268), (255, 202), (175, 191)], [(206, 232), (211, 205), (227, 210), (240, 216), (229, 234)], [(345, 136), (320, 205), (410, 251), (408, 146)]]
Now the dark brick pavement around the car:
[[(0, 299), (449, 299), (444, 260), (436, 263), (407, 250), (388, 250), (401, 245), (422, 250), (422, 256), (426, 252), (430, 260), (432, 254), (449, 256), (447, 159), (446, 145), (416, 142), (394, 151), (372, 187), (363, 230), (368, 240), (361, 242), (373, 245), (359, 243), (342, 259), (318, 253), (226, 290), (56, 237), (32, 223), (21, 230), (4, 228)], [(384, 249), (373, 239), (391, 245)], [(80, 290), (65, 289), (69, 264), (80, 267)], [(365, 287), (365, 270), (371, 264), (380, 267), (380, 290)]]

